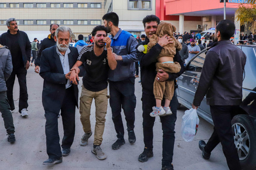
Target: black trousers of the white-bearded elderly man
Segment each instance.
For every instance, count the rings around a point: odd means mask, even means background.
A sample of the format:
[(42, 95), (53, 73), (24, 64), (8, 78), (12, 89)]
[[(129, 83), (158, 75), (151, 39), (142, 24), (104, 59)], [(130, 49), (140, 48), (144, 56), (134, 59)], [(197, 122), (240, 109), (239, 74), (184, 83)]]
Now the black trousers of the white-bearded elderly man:
[[(62, 148), (67, 149), (71, 147), (75, 136), (76, 98), (72, 86), (66, 89), (65, 97), (60, 110), (64, 130)], [(45, 116), (47, 154), (49, 158), (60, 158), (62, 157), (62, 152), (60, 149), (60, 137), (58, 133), (58, 113), (45, 110)]]

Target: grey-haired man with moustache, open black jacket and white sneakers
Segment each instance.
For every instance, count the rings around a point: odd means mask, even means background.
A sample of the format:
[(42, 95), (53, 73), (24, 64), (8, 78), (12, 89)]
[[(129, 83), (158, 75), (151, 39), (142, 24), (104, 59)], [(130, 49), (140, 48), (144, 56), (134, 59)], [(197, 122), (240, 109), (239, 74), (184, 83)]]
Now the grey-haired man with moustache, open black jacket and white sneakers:
[(6, 20), (8, 31), (0, 36), (0, 44), (7, 46), (11, 51), (13, 72), (6, 81), (7, 98), (11, 111), (15, 109), (13, 102), (13, 86), (15, 76), (19, 81), (19, 113), (21, 116), (28, 116), (28, 90), (26, 75), (31, 58), (31, 44), (28, 35), (18, 30), (18, 24), (15, 18)]

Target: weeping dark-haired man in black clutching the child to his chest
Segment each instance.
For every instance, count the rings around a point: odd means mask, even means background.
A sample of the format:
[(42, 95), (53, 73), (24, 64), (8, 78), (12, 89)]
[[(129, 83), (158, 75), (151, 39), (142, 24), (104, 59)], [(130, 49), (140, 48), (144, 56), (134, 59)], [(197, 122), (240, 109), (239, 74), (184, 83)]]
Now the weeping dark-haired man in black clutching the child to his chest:
[[(175, 78), (180, 76), (184, 68), (184, 62), (181, 60), (179, 52), (176, 50), (173, 60), (180, 63), (181, 70), (179, 73), (166, 73), (163, 70), (156, 72), (156, 57), (160, 54), (162, 46), (172, 43), (171, 39), (167, 35), (159, 38), (158, 43), (152, 47), (152, 49), (146, 53), (141, 50), (141, 47), (147, 49), (149, 43), (149, 37), (156, 33), (157, 25), (160, 19), (155, 15), (146, 16), (143, 19), (145, 33), (147, 35), (144, 42), (138, 44), (137, 55), (139, 57), (139, 63), (141, 65), (141, 85), (142, 85), (142, 110), (143, 110), (143, 136), (144, 136), (144, 151), (139, 155), (138, 160), (140, 162), (146, 162), (153, 156), (153, 126), (155, 117), (151, 117), (149, 113), (152, 111), (152, 106), (156, 105), (156, 99), (153, 94), (153, 84), (155, 77), (159, 78), (157, 81), (175, 81)], [(141, 52), (142, 51), (142, 52)], [(164, 100), (163, 100), (164, 102)], [(163, 105), (164, 103), (162, 103)], [(175, 121), (177, 119), (177, 95), (174, 91), (173, 98), (170, 103), (171, 115), (161, 116), (163, 130), (163, 150), (162, 150), (162, 170), (173, 170), (172, 157), (174, 147), (174, 128)]]

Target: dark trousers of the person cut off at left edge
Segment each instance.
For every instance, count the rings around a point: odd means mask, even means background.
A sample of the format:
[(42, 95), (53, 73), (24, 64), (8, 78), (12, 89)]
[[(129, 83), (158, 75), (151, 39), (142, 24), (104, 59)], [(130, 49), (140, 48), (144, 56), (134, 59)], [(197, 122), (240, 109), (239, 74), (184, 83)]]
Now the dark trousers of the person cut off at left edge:
[(3, 122), (7, 134), (14, 133), (13, 116), (10, 111), (10, 105), (6, 96), (6, 91), (0, 92), (0, 112), (2, 113)]

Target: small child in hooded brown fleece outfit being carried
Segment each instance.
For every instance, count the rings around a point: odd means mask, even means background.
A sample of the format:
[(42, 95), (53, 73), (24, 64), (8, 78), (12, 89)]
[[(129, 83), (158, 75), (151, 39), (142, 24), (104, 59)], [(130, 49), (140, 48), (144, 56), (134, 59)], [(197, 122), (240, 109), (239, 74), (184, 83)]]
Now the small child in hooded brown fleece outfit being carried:
[[(162, 51), (157, 57), (156, 71), (160, 69), (166, 71), (167, 73), (178, 73), (180, 71), (180, 64), (178, 62), (173, 62), (173, 57), (176, 54), (176, 49), (181, 50), (181, 43), (173, 37), (173, 32), (176, 31), (176, 27), (168, 22), (160, 22), (157, 27), (156, 34), (149, 38), (149, 43), (147, 44), (147, 52), (158, 42), (158, 37), (163, 37), (167, 34), (167, 38), (172, 38), (173, 43), (163, 46)], [(157, 76), (156, 76), (157, 79)], [(150, 116), (165, 116), (172, 114), (170, 110), (170, 102), (174, 93), (174, 81), (154, 81), (154, 95), (156, 99), (156, 107), (154, 106), (153, 111)], [(159, 79), (158, 79), (159, 80)], [(164, 108), (161, 106), (161, 102), (165, 98)]]

